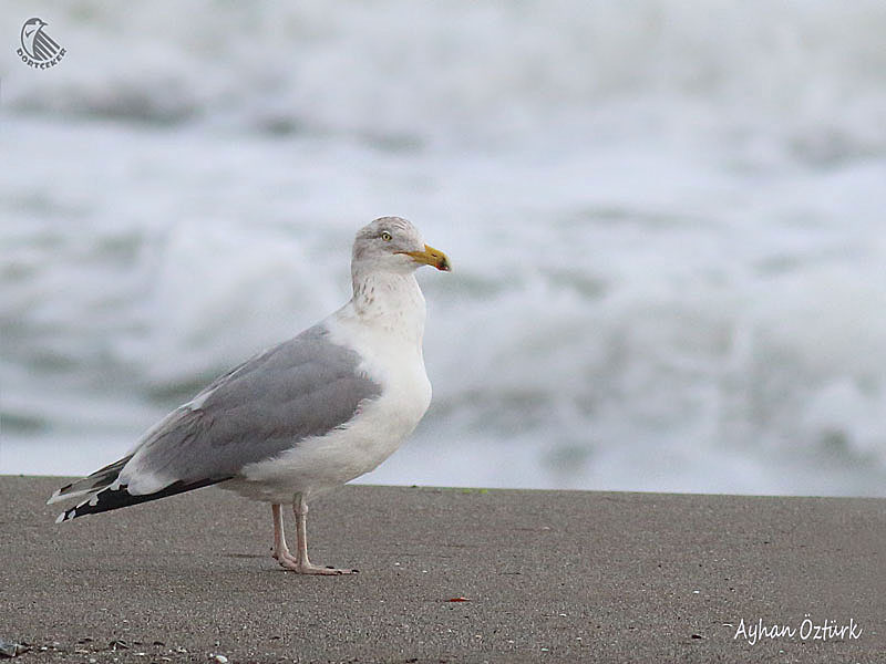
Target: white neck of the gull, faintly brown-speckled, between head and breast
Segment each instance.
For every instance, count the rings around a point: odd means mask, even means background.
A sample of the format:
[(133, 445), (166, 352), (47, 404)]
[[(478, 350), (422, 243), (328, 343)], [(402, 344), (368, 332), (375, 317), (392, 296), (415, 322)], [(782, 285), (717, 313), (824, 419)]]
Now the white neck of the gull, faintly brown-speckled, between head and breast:
[(364, 323), (413, 340), (424, 335), (424, 295), (412, 272), (354, 271), (353, 312)]

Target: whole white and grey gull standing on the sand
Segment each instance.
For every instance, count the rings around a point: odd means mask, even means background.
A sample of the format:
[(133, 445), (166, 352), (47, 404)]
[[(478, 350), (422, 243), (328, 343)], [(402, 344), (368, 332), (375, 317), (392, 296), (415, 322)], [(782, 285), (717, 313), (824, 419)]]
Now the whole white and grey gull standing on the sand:
[[(165, 498), (209, 485), (269, 502), (272, 556), (302, 574), (357, 570), (308, 560), (308, 500), (369, 473), (396, 450), (431, 403), (415, 269), (451, 271), (400, 217), (357, 232), (353, 297), (298, 336), (216, 378), (148, 429), (123, 458), (49, 499), (82, 501), (56, 519)], [(296, 552), (282, 506), (296, 519)]]

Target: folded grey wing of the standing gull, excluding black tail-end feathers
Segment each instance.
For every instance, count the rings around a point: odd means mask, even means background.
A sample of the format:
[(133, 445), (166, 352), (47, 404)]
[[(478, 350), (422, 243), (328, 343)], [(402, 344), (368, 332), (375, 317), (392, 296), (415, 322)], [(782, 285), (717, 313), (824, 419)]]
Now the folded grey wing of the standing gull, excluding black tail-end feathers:
[(326, 328), (315, 325), (234, 369), (172, 413), (135, 450), (138, 471), (182, 481), (227, 478), (323, 435), (381, 393), (359, 364), (354, 351), (332, 343)]

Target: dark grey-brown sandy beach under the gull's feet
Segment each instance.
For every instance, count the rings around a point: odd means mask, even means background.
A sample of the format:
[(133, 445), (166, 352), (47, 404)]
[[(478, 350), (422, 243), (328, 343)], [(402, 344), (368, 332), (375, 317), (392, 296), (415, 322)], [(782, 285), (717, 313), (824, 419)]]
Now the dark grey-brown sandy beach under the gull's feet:
[[(277, 567), (265, 505), (56, 526), (61, 484), (0, 477), (12, 661), (886, 662), (884, 499), (350, 486), (312, 506), (310, 553), (361, 572), (323, 578)], [(806, 614), (858, 637), (804, 640)], [(796, 633), (734, 637), (760, 619)]]

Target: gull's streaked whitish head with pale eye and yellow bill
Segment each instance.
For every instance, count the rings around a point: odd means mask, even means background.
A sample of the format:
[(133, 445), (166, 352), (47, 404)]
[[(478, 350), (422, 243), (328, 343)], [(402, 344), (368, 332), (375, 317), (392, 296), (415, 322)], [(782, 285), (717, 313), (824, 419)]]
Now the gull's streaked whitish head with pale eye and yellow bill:
[(429, 247), (419, 229), (400, 217), (381, 217), (357, 231), (352, 270), (384, 270), (408, 273), (421, 266), (449, 272), (450, 259)]

